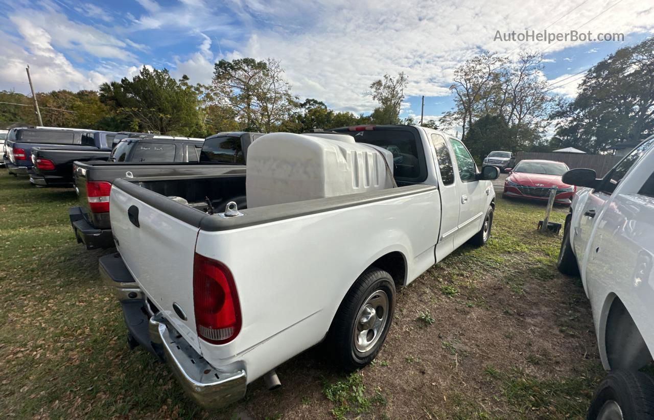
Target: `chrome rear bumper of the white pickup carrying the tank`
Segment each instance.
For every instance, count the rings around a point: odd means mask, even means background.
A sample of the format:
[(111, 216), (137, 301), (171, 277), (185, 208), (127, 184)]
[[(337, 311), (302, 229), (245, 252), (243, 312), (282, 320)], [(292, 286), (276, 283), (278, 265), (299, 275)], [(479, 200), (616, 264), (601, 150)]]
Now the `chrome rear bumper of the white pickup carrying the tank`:
[(105, 283), (114, 289), (120, 301), (131, 336), (139, 345), (160, 359), (165, 359), (192, 400), (211, 409), (227, 406), (245, 396), (245, 370), (226, 371), (215, 368), (165, 321), (161, 312), (149, 317), (146, 315), (152, 313), (152, 306), (146, 303), (143, 292), (118, 253), (101, 257), (99, 270)]

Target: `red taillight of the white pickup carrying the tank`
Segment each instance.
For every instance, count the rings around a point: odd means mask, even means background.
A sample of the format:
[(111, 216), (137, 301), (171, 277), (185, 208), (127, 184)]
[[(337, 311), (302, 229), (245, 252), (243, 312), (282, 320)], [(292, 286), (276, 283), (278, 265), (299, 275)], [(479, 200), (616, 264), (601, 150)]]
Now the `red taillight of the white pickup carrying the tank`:
[(230, 270), (195, 254), (193, 305), (198, 336), (213, 344), (232, 341), (241, 331), (241, 306)]

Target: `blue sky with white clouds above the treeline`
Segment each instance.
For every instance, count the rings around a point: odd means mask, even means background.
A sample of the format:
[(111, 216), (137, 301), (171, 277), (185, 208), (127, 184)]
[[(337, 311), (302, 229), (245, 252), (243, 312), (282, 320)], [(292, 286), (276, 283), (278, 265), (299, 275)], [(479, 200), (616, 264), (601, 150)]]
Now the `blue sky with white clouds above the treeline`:
[[(542, 52), (552, 92), (574, 97), (583, 71), (654, 35), (651, 0), (0, 0), (0, 90), (97, 89), (143, 65), (207, 83), (221, 59), (281, 61), (294, 94), (370, 113), (370, 83), (409, 77), (402, 117), (453, 106), (457, 65), (483, 50)], [(623, 41), (501, 41), (500, 34), (621, 33)]]

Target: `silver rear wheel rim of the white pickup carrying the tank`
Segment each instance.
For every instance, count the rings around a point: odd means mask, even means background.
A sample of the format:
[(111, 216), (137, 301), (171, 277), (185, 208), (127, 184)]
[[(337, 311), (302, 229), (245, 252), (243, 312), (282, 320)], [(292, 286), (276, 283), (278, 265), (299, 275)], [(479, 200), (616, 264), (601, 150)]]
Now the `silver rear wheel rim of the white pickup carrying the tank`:
[(354, 348), (359, 353), (370, 351), (381, 338), (388, 321), (388, 294), (372, 292), (360, 307), (354, 321)]

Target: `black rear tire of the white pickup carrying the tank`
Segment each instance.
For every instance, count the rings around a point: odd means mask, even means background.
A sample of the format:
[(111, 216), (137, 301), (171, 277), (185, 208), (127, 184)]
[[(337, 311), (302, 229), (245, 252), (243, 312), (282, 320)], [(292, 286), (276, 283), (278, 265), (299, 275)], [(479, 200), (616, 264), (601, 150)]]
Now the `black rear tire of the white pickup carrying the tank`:
[[(383, 300), (384, 296), (381, 296), (382, 294), (379, 292), (383, 292), (387, 298), (387, 307), (382, 308), (381, 313), (381, 304), (374, 307), (376, 300), (372, 301), (370, 307), (366, 305), (375, 294), (379, 295), (379, 298)], [(372, 307), (374, 307), (374, 315), (369, 314), (370, 319), (374, 317), (375, 323), (377, 320), (381, 320), (379, 321), (381, 326), (377, 329), (377, 332), (373, 328), (369, 329), (367, 324), (364, 326), (363, 323), (359, 322), (362, 319), (361, 317), (366, 315), (362, 311), (370, 311)], [(345, 295), (343, 302), (341, 302), (330, 328), (329, 344), (334, 349), (334, 356), (343, 369), (350, 371), (362, 368), (375, 359), (384, 340), (386, 340), (394, 309), (395, 283), (390, 274), (384, 270), (371, 267), (359, 276), (356, 283)], [(367, 332), (366, 340), (368, 338), (371, 341), (374, 340), (370, 349), (360, 351), (357, 348), (357, 345), (361, 347), (364, 347), (364, 345), (354, 342), (355, 330), (361, 331), (358, 337), (363, 337), (362, 334)], [(370, 336), (371, 332), (372, 336)]]

